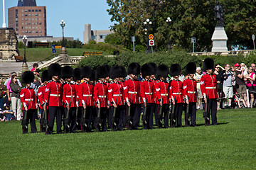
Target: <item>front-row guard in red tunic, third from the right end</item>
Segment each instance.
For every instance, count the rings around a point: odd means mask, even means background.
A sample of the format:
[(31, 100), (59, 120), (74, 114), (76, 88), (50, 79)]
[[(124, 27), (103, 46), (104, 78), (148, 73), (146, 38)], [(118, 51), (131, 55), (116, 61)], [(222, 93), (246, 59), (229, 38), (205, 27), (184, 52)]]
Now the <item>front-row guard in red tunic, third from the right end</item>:
[(179, 64), (172, 64), (170, 67), (170, 75), (174, 77), (174, 80), (170, 83), (170, 90), (169, 90), (169, 99), (172, 102), (174, 107), (174, 113), (176, 115), (176, 123), (171, 121), (171, 127), (181, 127), (181, 115), (183, 111), (183, 97), (182, 97), (182, 81), (178, 79), (179, 75), (181, 75), (181, 66)]

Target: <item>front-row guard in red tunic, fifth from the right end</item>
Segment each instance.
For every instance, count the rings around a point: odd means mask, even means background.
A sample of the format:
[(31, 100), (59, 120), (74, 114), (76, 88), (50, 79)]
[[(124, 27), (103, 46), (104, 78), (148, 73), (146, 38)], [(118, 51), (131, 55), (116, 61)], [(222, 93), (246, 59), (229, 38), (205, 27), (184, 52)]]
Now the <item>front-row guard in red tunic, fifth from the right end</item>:
[[(145, 115), (145, 129), (153, 129), (153, 113), (154, 113), (154, 82), (150, 76), (154, 74), (149, 64), (142, 65), (142, 77), (145, 79), (140, 84), (140, 96), (143, 101), (143, 114)], [(146, 107), (146, 113), (144, 113)]]

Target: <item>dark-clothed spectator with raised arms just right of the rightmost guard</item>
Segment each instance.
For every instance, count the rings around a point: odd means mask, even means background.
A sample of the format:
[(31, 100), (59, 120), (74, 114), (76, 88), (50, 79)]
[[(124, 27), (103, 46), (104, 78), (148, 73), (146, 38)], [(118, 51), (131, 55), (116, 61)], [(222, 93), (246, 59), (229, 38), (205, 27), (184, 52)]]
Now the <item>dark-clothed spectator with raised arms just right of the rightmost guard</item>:
[[(223, 84), (221, 81), (221, 77), (223, 75), (223, 70), (225, 70), (225, 69), (223, 67), (221, 67), (219, 64), (216, 64), (214, 69), (215, 70), (214, 70), (213, 74), (216, 75), (216, 81), (217, 81), (217, 86), (218, 86), (218, 97), (221, 98), (223, 96)], [(217, 100), (217, 110), (220, 110), (220, 108), (222, 108), (221, 101), (222, 101), (221, 99)]]

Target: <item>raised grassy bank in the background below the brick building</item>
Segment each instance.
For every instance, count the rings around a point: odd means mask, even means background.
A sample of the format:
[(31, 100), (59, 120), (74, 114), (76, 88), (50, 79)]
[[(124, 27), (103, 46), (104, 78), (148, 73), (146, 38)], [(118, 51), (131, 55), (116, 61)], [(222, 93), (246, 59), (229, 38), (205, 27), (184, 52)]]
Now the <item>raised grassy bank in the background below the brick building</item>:
[[(21, 56), (24, 56), (24, 49), (18, 49)], [(67, 48), (68, 55), (80, 56), (83, 52), (97, 52), (98, 50), (90, 50), (84, 48)], [(60, 54), (60, 49), (56, 49), (56, 55)], [(28, 62), (39, 62), (41, 60), (47, 61), (47, 57), (52, 59), (54, 56), (51, 48), (38, 47), (38, 48), (26, 48), (26, 59)], [(110, 55), (107, 52), (103, 52), (103, 55)]]

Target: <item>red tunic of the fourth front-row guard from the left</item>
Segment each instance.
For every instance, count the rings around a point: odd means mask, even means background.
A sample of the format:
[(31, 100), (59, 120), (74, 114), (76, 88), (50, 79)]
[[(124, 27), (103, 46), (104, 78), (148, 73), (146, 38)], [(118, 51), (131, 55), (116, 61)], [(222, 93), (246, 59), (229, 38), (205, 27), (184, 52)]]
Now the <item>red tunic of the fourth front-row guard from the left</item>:
[(82, 104), (86, 102), (86, 106), (93, 106), (93, 85), (84, 81), (79, 86), (78, 95), (80, 100), (82, 100)]

